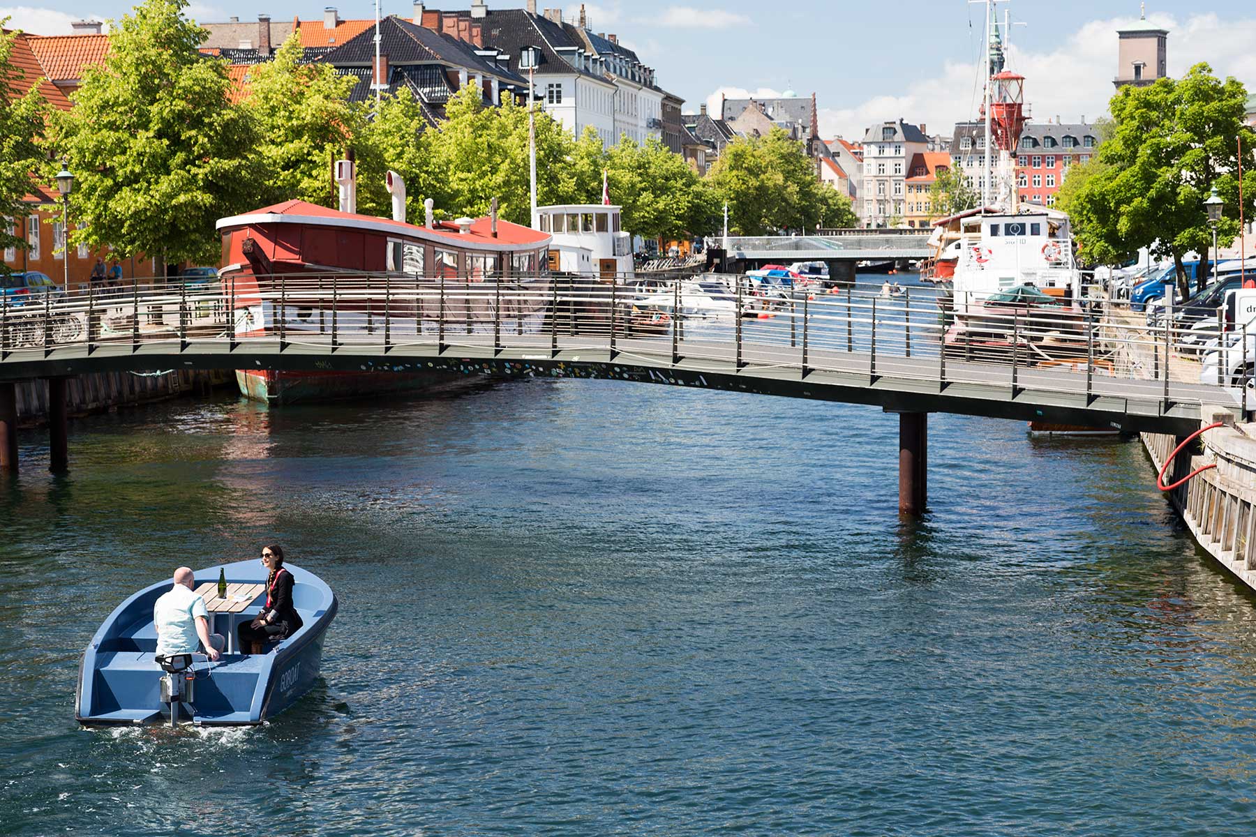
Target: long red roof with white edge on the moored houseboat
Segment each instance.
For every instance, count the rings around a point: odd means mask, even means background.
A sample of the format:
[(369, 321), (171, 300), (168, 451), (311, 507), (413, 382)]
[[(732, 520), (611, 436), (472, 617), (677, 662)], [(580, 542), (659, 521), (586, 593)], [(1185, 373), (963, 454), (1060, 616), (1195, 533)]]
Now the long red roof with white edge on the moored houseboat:
[(254, 210), (244, 215), (219, 218), (216, 228), (225, 230), (254, 223), (308, 223), (327, 227), (350, 227), (354, 230), (369, 230), (372, 232), (404, 235), (412, 238), (423, 238), (433, 243), (468, 250), (534, 250), (548, 245), (550, 241), (548, 232), (538, 232), (530, 227), (500, 218), (497, 220), (497, 235), (494, 237), (492, 221), (487, 216), (474, 220), (470, 231), (461, 232), (458, 226), (452, 221), (437, 221), (432, 228), (428, 228), (406, 221), (379, 218), (373, 215), (340, 212), (339, 210), (332, 210), (308, 201), (284, 201), (283, 203)]

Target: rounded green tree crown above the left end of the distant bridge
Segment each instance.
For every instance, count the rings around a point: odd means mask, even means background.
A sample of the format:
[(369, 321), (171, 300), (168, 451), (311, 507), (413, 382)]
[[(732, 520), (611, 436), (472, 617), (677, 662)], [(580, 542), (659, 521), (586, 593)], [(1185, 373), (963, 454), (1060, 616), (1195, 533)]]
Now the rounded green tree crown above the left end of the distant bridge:
[(820, 183), (803, 144), (780, 128), (728, 143), (707, 177), (717, 200), (728, 203), (728, 231), (737, 235), (810, 230), (821, 216), (828, 226), (857, 222), (850, 201)]

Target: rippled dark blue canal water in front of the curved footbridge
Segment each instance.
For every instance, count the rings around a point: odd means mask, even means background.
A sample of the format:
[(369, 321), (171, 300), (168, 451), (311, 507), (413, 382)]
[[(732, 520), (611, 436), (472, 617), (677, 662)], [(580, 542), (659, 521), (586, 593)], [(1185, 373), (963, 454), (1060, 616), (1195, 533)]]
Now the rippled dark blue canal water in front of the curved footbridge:
[[(0, 483), (0, 833), (1248, 834), (1252, 596), (1130, 440), (614, 381), (80, 419)], [(80, 730), (83, 646), (280, 542), (340, 599), (256, 729)]]

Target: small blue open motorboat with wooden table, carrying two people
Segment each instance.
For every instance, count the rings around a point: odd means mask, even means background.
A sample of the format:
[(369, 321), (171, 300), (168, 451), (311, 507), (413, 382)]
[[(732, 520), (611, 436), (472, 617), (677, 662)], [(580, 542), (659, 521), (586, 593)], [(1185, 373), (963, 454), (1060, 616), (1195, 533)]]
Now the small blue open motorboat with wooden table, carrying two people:
[[(323, 640), (338, 602), (332, 589), (313, 572), (286, 562), (284, 568), (293, 573), (293, 605), (304, 625), (271, 644), (266, 654), (229, 649), (234, 653), (214, 663), (203, 655), (158, 660), (153, 602), (171, 589), (171, 580), (127, 599), (109, 614), (83, 653), (74, 717), (88, 727), (181, 720), (206, 727), (246, 725), (288, 709), (318, 678)], [(232, 590), (266, 582), (266, 568), (256, 560), (206, 567), (196, 572), (196, 580), (216, 587), (220, 571), (229, 585), (240, 585)], [(241, 605), (239, 612), (211, 614), (211, 630), (227, 636), (232, 645), (236, 626), (261, 612), (265, 596), (241, 595), (236, 601)]]

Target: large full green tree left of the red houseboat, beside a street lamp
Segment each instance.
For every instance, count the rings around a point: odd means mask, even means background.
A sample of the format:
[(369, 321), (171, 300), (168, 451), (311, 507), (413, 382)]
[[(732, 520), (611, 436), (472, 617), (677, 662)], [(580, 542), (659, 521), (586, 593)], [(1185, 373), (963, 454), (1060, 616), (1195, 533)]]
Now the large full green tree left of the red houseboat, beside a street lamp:
[(216, 261), (215, 221), (254, 208), (264, 178), (249, 114), (230, 102), (226, 64), (203, 58), (206, 31), (183, 0), (144, 0), (113, 28), (57, 120), (77, 173), (75, 238), (119, 255)]

